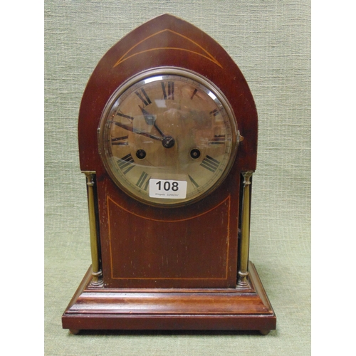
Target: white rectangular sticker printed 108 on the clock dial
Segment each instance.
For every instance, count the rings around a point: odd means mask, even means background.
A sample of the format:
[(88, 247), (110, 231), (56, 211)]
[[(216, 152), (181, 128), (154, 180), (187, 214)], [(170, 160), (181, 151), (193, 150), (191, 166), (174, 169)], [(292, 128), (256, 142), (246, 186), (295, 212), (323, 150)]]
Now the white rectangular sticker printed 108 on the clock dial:
[(150, 197), (161, 199), (185, 199), (187, 182), (179, 180), (150, 179)]

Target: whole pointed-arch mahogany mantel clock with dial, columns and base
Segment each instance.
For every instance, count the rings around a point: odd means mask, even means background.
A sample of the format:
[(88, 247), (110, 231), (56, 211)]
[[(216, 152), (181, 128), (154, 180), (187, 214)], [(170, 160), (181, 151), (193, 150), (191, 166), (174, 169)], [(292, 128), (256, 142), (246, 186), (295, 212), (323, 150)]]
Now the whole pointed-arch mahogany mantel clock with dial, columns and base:
[(130, 32), (90, 76), (78, 140), (92, 265), (63, 328), (276, 328), (248, 261), (256, 107), (216, 41), (168, 14)]

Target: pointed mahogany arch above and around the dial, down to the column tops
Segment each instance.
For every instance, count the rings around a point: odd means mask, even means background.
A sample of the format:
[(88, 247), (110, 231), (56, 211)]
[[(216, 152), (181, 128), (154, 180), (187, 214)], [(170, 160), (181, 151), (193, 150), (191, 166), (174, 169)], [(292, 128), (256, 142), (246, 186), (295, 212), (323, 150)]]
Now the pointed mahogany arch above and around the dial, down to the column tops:
[(99, 61), (83, 94), (78, 121), (80, 168), (100, 172), (96, 135), (105, 105), (115, 90), (145, 70), (177, 67), (202, 75), (225, 95), (241, 135), (236, 164), (256, 169), (257, 112), (241, 70), (219, 43), (191, 23), (164, 14), (118, 41)]

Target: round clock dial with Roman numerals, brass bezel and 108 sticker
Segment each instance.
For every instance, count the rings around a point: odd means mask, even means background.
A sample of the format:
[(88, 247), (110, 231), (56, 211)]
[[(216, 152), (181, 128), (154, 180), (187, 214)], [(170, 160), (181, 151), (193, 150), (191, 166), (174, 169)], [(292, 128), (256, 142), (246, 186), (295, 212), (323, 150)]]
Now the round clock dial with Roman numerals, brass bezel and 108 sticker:
[(237, 128), (224, 95), (196, 73), (158, 68), (118, 88), (100, 120), (105, 168), (131, 197), (179, 206), (206, 197), (236, 155)]

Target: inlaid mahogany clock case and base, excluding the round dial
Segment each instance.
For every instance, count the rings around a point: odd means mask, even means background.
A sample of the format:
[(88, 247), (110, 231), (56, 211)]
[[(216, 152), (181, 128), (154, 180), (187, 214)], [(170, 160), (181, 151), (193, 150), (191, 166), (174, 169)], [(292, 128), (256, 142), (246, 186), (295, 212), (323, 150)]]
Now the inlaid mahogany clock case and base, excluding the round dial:
[[(133, 199), (112, 181), (100, 157), (98, 127), (105, 105), (120, 85), (152, 68), (185, 69), (214, 83), (241, 135), (224, 181), (187, 206), (163, 208)], [(63, 314), (63, 328), (263, 333), (276, 328), (256, 269), (251, 262), (247, 266), (257, 112), (244, 76), (224, 48), (168, 14), (136, 28), (110, 48), (91, 75), (80, 104), (78, 141), (80, 169), (92, 177), (90, 234), (96, 239), (91, 248), (98, 271), (89, 268)], [(245, 232), (239, 234), (242, 224)], [(246, 239), (247, 247), (241, 242)], [(246, 283), (239, 286), (241, 258), (247, 258)]]

